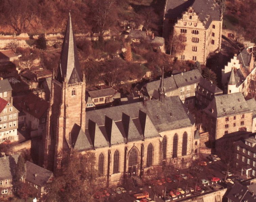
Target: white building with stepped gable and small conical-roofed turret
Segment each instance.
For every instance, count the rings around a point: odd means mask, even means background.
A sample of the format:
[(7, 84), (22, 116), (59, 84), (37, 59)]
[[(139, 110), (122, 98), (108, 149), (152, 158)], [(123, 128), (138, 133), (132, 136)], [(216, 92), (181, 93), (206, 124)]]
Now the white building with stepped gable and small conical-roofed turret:
[(227, 94), (241, 92), (245, 97), (249, 93), (251, 80), (256, 80), (256, 64), (252, 53), (244, 48), (234, 55), (222, 69), (222, 86)]

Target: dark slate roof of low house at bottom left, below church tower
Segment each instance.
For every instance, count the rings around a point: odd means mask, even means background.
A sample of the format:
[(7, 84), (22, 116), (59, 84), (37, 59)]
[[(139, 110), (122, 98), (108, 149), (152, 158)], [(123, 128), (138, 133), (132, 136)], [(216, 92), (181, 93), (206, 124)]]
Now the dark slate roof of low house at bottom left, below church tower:
[(29, 182), (32, 182), (40, 187), (44, 187), (52, 177), (52, 171), (26, 161), (26, 180)]

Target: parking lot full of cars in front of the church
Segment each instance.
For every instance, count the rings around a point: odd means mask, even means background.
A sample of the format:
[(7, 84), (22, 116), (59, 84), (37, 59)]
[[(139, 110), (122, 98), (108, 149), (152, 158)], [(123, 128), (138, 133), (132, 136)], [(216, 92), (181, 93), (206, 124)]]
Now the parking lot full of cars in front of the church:
[[(136, 201), (134, 194), (145, 191), (156, 202), (182, 201), (226, 188), (228, 183), (224, 181), (225, 174), (222, 173), (225, 171), (225, 163), (220, 160), (209, 162), (207, 156), (209, 155), (202, 155), (200, 161), (193, 163), (190, 168), (173, 170), (169, 175), (164, 176), (163, 173), (159, 173), (155, 178), (143, 177), (142, 181), (136, 178), (127, 178), (126, 183), (122, 186), (126, 190), (125, 193), (116, 193), (116, 188), (111, 188), (109, 189), (110, 196), (105, 197), (102, 201), (133, 202)], [(138, 200), (140, 201), (140, 199)]]

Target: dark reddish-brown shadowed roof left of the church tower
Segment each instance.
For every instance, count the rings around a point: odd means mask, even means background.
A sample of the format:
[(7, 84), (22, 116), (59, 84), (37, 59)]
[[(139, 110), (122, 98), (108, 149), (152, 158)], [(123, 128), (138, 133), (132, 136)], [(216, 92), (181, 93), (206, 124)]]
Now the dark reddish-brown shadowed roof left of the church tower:
[(14, 106), (19, 111), (26, 111), (37, 119), (41, 119), (46, 117), (49, 103), (31, 92), (28, 95), (15, 99)]

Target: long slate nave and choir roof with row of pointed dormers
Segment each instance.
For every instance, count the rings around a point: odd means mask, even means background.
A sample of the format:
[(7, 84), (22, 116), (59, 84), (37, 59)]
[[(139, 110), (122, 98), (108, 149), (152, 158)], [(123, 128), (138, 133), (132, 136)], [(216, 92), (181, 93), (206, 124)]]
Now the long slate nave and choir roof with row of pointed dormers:
[[(158, 137), (159, 133), (190, 127), (194, 120), (178, 96), (86, 112), (87, 145), (94, 148)], [(85, 137), (85, 136), (84, 136)]]

